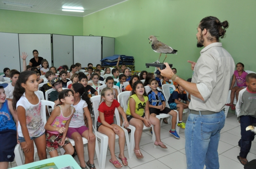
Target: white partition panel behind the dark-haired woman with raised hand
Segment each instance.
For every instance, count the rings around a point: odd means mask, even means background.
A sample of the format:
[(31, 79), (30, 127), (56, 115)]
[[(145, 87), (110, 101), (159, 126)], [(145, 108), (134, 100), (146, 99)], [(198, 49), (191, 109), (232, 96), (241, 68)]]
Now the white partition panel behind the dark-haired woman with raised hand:
[[(51, 44), (51, 34), (18, 34), (19, 35), (19, 46), (20, 55), (23, 52), (27, 53), (27, 65), (29, 60), (32, 59), (33, 50), (38, 50), (40, 57), (47, 59), (49, 66), (52, 66), (52, 44)], [(23, 61), (20, 58), (20, 69), (23, 70)]]

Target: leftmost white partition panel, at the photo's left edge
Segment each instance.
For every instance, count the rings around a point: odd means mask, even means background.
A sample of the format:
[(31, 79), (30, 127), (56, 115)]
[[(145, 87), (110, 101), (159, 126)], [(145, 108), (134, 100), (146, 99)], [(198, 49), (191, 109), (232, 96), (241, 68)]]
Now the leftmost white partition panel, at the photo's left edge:
[(0, 32), (0, 72), (4, 68), (20, 71), (18, 33)]

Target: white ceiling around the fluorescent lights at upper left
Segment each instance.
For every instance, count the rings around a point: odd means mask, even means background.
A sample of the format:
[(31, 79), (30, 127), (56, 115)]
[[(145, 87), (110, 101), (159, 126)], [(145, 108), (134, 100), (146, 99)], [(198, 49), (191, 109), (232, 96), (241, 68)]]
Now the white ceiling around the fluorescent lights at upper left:
[[(14, 6), (4, 4), (2, 1), (29, 4), (33, 7)], [(124, 1), (127, 0), (0, 0), (0, 9), (83, 17)], [(84, 12), (61, 11), (63, 6), (83, 7), (85, 10)]]

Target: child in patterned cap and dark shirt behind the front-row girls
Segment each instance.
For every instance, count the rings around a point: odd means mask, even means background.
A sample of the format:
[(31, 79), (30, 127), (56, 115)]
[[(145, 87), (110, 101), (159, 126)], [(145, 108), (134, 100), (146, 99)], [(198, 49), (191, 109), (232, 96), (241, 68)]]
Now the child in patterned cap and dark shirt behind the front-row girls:
[(59, 93), (63, 90), (62, 89), (62, 81), (59, 77), (54, 77), (51, 80), (52, 88), (55, 89), (54, 91), (50, 92), (50, 100), (56, 103), (59, 98)]

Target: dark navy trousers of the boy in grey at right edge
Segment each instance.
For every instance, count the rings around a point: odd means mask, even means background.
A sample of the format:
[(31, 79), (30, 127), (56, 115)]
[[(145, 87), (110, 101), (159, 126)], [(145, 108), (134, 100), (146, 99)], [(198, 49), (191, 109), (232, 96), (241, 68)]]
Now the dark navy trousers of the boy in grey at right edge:
[(240, 116), (240, 127), (241, 127), (241, 139), (238, 142), (238, 145), (241, 147), (239, 156), (246, 158), (247, 154), (251, 149), (251, 141), (254, 140), (254, 132), (251, 130), (246, 131), (246, 127), (256, 123), (256, 118), (253, 116)]

